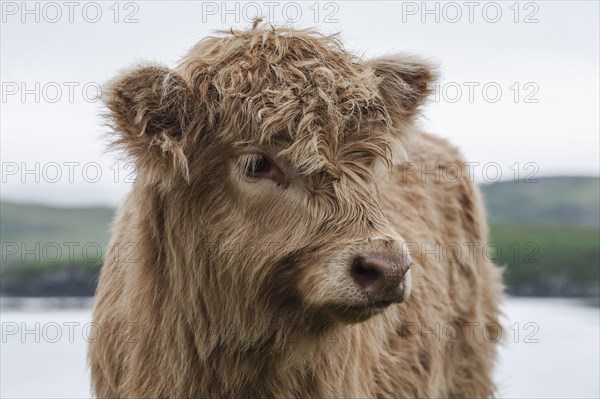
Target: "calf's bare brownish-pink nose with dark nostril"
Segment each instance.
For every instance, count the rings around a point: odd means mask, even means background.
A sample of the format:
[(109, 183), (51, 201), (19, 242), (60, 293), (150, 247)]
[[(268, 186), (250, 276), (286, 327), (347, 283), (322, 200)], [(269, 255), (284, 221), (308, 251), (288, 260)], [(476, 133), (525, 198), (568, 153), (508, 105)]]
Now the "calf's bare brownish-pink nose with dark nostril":
[(358, 287), (372, 298), (393, 295), (408, 271), (411, 260), (400, 254), (358, 254), (352, 259), (350, 274)]

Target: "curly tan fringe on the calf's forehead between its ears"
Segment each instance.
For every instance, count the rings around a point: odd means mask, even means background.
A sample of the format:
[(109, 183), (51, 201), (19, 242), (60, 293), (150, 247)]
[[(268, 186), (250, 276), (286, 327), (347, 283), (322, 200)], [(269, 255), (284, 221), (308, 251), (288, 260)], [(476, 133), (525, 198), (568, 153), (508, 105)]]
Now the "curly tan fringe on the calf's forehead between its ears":
[(348, 54), (337, 35), (255, 23), (200, 41), (177, 69), (201, 102), (218, 102), (215, 133), (227, 142), (284, 140), (288, 146), (278, 155), (301, 174), (338, 175), (342, 151), (389, 163), (392, 121), (378, 90), (381, 78)]

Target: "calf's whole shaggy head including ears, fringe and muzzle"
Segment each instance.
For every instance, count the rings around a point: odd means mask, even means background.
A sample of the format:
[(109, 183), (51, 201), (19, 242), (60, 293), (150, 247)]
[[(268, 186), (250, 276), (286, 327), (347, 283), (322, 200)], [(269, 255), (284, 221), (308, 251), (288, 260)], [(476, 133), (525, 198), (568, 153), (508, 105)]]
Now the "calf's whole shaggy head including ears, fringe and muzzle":
[(410, 254), (380, 171), (432, 79), (418, 59), (361, 61), (335, 37), (254, 27), (115, 80), (116, 144), (137, 163), (138, 207), (160, 208), (141, 214), (172, 295), (249, 336), (257, 322), (319, 329), (406, 300)]

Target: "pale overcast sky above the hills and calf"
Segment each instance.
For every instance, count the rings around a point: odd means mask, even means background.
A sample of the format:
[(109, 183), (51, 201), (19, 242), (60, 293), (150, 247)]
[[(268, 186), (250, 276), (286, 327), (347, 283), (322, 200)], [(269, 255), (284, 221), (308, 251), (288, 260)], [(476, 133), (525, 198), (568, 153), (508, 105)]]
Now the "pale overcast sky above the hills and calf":
[(2, 3), (4, 200), (117, 204), (131, 169), (120, 164), (117, 175), (105, 153), (96, 87), (141, 60), (173, 66), (257, 12), (340, 32), (365, 58), (411, 52), (438, 63), (422, 124), (475, 163), (479, 182), (495, 180), (496, 164), (503, 180), (516, 170), (521, 180), (598, 175), (597, 1), (23, 4)]

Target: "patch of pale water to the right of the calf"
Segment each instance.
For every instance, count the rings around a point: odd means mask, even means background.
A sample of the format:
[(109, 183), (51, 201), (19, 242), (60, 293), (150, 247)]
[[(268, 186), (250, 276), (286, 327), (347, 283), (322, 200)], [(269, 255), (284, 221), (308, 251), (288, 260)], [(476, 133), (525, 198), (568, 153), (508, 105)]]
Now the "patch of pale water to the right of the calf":
[(513, 298), (505, 313), (496, 378), (501, 397), (600, 398), (600, 308), (579, 300)]

